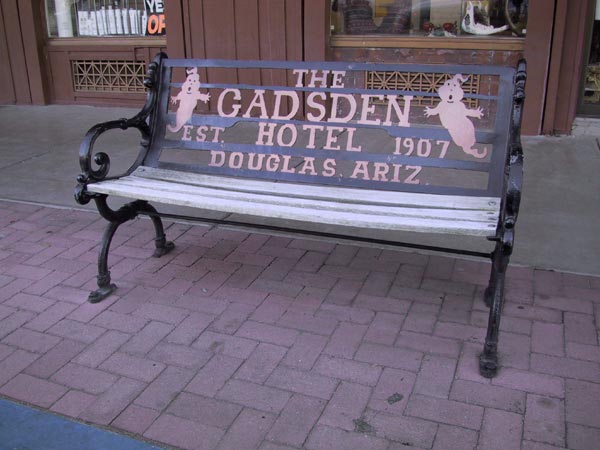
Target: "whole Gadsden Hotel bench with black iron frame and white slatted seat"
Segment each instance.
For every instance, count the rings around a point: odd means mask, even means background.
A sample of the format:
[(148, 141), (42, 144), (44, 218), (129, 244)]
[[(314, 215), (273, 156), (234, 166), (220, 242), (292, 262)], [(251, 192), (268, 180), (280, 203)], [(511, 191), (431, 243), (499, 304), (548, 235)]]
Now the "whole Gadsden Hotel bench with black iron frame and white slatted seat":
[[(143, 109), (94, 126), (81, 144), (76, 200), (94, 200), (109, 222), (89, 301), (116, 289), (108, 251), (120, 224), (148, 215), (154, 256), (173, 248), (161, 217), (190, 217), (159, 213), (151, 202), (224, 213), (203, 220), (228, 225), (491, 258), (480, 371), (494, 376), (521, 196), (525, 78), (524, 61), (513, 68), (159, 54), (144, 80)], [(110, 159), (94, 154), (94, 143), (105, 131), (132, 127), (141, 134), (139, 155), (125, 173), (109, 175)], [(132, 201), (115, 210), (108, 196)], [(394, 232), (495, 244), (474, 252), (380, 238)]]

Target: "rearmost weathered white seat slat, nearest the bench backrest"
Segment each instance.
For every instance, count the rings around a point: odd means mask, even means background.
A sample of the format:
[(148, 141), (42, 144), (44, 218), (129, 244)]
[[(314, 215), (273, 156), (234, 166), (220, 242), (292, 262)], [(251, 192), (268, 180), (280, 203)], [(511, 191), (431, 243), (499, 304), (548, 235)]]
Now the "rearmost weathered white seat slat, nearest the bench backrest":
[(366, 203), (389, 206), (419, 206), (445, 209), (475, 209), (498, 211), (500, 199), (497, 197), (465, 197), (458, 195), (435, 195), (411, 192), (392, 192), (372, 189), (340, 188), (336, 186), (315, 186), (305, 183), (252, 180), (225, 176), (205, 175), (157, 169), (141, 166), (133, 176), (154, 180), (184, 183), (193, 186), (226, 189), (230, 191), (266, 193), (283, 197), (298, 197), (314, 200), (346, 203)]

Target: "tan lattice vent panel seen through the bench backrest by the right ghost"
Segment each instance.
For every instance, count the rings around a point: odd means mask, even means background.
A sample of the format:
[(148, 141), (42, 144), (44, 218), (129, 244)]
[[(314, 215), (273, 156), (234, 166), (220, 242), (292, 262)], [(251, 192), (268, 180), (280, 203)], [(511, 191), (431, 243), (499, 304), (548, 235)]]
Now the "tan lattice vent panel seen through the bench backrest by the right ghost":
[[(437, 93), (437, 88), (453, 75), (447, 73), (421, 73), (421, 72), (388, 72), (368, 71), (366, 73), (367, 89), (397, 89), (403, 91), (420, 91)], [(465, 94), (478, 94), (480, 85), (479, 75), (469, 75), (469, 79), (462, 83)], [(414, 106), (434, 106), (439, 103), (437, 95), (433, 97), (415, 96), (412, 100)], [(477, 99), (465, 98), (463, 102), (468, 108), (476, 108)]]

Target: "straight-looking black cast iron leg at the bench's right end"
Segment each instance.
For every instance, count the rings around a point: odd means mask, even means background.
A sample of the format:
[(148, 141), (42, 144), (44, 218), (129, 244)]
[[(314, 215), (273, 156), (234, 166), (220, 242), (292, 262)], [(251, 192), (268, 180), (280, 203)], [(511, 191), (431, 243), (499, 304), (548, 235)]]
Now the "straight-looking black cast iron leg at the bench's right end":
[(509, 250), (501, 242), (496, 243), (492, 256), (490, 284), (485, 291), (485, 302), (490, 307), (487, 335), (483, 353), (479, 356), (479, 373), (486, 378), (493, 378), (498, 371), (498, 333), (509, 255)]

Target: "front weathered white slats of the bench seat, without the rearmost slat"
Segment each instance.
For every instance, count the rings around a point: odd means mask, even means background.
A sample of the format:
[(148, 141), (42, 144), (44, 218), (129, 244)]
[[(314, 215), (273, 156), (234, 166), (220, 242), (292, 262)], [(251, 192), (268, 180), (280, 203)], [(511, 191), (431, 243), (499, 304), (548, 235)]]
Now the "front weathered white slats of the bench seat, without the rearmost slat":
[(108, 195), (227, 213), (385, 230), (487, 236), (493, 234), (497, 220), (497, 212), (490, 211), (383, 207), (240, 191), (223, 193), (219, 189), (135, 176), (90, 184), (88, 189)]

